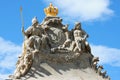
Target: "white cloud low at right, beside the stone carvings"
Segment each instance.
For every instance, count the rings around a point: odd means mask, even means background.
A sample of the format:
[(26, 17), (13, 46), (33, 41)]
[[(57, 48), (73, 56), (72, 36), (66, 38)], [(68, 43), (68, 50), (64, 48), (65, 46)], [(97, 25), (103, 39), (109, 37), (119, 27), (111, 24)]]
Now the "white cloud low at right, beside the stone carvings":
[(109, 64), (120, 67), (120, 49), (102, 45), (91, 45), (92, 54), (100, 58), (100, 64)]

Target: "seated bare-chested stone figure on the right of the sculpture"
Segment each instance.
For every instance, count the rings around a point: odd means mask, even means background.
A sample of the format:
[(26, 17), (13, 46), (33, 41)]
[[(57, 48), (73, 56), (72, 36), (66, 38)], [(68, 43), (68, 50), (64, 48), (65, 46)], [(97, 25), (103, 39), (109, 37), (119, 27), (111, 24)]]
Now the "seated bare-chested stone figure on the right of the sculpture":
[(88, 37), (88, 34), (82, 30), (81, 28), (81, 23), (77, 22), (75, 24), (75, 28), (73, 30), (73, 36), (74, 36), (74, 41), (75, 41), (75, 47), (73, 49), (74, 52), (77, 50), (81, 52), (82, 50), (86, 50), (90, 52), (90, 47), (88, 42), (86, 41), (86, 38)]

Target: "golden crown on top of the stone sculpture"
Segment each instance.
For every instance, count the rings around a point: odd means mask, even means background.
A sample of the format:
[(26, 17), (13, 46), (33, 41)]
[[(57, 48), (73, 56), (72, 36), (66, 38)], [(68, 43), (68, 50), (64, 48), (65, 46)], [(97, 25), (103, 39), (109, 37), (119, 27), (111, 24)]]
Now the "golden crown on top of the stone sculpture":
[(49, 7), (44, 9), (44, 12), (45, 12), (46, 16), (53, 16), (53, 17), (55, 17), (58, 14), (58, 8), (54, 7), (52, 5), (52, 3), (50, 3)]

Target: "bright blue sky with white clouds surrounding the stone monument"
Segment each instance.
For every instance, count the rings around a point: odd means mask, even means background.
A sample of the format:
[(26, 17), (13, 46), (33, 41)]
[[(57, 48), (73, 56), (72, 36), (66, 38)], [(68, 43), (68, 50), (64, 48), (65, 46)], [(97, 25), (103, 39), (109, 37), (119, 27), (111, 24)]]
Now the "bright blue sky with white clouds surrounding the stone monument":
[(59, 8), (58, 16), (63, 24), (74, 27), (82, 22), (89, 34), (92, 53), (100, 57), (99, 64), (112, 80), (120, 74), (120, 1), (119, 0), (1, 0), (0, 1), (0, 80), (13, 73), (17, 56), (23, 42), (20, 6), (23, 7), (24, 27), (31, 25), (37, 16), (39, 22), (45, 17), (43, 9), (52, 2)]

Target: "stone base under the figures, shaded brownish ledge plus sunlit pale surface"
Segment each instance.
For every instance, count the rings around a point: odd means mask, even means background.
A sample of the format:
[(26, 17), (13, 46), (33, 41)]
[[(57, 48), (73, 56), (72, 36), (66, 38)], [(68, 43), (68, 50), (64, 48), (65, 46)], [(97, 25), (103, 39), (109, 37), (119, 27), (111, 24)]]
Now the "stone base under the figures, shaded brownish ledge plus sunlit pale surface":
[(108, 80), (91, 68), (91, 54), (84, 53), (68, 61), (65, 55), (57, 57), (59, 55), (64, 54), (37, 54), (31, 69), (21, 80)]

